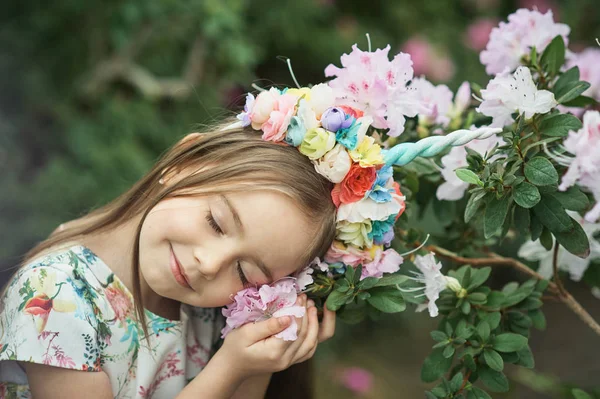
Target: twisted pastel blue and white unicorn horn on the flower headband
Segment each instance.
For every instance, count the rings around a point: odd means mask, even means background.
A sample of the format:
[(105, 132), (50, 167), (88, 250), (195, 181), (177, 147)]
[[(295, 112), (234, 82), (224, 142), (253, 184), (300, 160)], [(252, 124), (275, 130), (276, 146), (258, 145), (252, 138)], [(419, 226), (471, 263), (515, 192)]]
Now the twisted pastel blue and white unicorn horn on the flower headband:
[(416, 143), (397, 144), (389, 150), (383, 150), (383, 157), (386, 165), (403, 166), (416, 157), (431, 157), (448, 147), (464, 145), (471, 140), (487, 139), (501, 131), (502, 129), (497, 127), (456, 130), (445, 136), (426, 137)]

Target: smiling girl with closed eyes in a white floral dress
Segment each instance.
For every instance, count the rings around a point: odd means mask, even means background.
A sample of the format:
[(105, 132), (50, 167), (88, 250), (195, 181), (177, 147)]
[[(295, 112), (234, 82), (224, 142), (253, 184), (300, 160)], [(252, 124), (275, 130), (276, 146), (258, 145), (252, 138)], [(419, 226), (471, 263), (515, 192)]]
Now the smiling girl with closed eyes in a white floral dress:
[(305, 295), (289, 317), (215, 343), (219, 307), (322, 256), (332, 183), (292, 146), (251, 128), (191, 134), (126, 193), (61, 225), (2, 295), (0, 397), (258, 398), (271, 373), (331, 337)]

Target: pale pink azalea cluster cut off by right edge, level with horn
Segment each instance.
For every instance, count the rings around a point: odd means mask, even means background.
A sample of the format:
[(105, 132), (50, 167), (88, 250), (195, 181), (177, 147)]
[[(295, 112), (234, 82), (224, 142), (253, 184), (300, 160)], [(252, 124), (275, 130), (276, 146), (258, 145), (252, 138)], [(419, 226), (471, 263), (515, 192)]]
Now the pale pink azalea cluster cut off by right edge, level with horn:
[(595, 222), (600, 218), (600, 112), (587, 111), (581, 130), (569, 132), (563, 145), (575, 157), (557, 157), (559, 163), (569, 165), (558, 189), (564, 191), (577, 183), (590, 190), (596, 205), (585, 215), (585, 220)]

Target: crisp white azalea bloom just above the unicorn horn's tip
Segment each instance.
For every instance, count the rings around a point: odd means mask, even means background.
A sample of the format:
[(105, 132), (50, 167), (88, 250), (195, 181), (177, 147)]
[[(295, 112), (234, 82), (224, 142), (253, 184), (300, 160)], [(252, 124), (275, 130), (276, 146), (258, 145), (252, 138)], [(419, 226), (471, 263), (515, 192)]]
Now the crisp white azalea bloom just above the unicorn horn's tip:
[(529, 119), (534, 114), (545, 114), (558, 103), (548, 90), (538, 90), (529, 68), (521, 66), (513, 75), (508, 70), (492, 79), (485, 90), (481, 90), (483, 102), (478, 112), (491, 116), (492, 127), (502, 127), (514, 120), (513, 112), (524, 113)]

